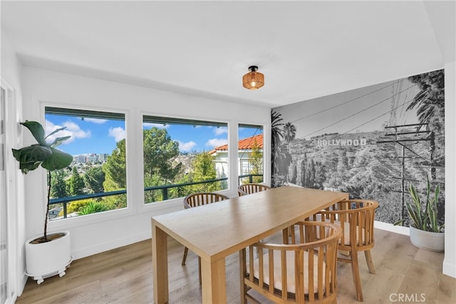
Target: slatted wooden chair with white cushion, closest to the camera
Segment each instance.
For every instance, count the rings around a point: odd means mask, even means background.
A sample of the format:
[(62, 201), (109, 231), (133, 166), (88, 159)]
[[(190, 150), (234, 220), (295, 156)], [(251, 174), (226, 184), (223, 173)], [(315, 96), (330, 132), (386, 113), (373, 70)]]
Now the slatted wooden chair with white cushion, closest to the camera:
[(251, 290), (274, 303), (336, 303), (341, 226), (299, 221), (282, 234), (282, 243), (257, 242), (239, 252), (241, 303), (261, 303)]

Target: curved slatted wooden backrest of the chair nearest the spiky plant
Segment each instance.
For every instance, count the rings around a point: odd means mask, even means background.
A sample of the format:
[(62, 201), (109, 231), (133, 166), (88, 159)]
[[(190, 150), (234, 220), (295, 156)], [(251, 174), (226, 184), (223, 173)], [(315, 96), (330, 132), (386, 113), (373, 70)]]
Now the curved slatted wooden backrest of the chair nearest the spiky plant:
[(348, 199), (338, 201), (319, 214), (322, 221), (341, 226), (341, 250), (366, 251), (374, 246), (373, 221), (377, 207), (377, 201)]

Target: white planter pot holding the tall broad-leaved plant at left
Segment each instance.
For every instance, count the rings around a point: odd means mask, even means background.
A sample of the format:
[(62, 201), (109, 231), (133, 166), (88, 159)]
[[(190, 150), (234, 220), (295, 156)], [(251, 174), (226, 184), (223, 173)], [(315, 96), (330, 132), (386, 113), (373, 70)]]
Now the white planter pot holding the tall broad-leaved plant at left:
[[(71, 263), (70, 231), (59, 231), (53, 234), (64, 234), (61, 238), (46, 243), (30, 243), (40, 236), (34, 236), (26, 241), (27, 276), (33, 276), (38, 284), (48, 276), (59, 274), (63, 276)], [(48, 234), (48, 237), (52, 234)]]

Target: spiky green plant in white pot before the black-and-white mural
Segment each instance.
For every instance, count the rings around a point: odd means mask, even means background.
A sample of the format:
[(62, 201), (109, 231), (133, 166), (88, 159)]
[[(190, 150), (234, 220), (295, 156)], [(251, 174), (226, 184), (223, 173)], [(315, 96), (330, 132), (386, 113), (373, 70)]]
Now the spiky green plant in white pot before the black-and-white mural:
[[(427, 175), (426, 179), (423, 200), (413, 183), (410, 183), (408, 189), (412, 198), (411, 203), (405, 204), (410, 219), (410, 241), (418, 248), (441, 252), (445, 250), (445, 224), (439, 222), (437, 215), (440, 186), (437, 184), (432, 197)], [(403, 221), (400, 220), (395, 225), (402, 224)]]

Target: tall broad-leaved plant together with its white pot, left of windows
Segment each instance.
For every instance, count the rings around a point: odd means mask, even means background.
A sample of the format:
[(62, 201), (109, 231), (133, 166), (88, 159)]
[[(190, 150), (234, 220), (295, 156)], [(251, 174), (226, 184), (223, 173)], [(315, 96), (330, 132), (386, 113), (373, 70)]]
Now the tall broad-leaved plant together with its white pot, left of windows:
[(48, 189), (46, 215), (44, 217), (43, 234), (34, 236), (26, 241), (26, 274), (43, 282), (43, 278), (59, 274), (65, 275), (65, 270), (71, 263), (70, 234), (61, 231), (48, 235), (48, 212), (51, 194), (51, 172), (68, 167), (73, 161), (71, 154), (57, 150), (56, 147), (71, 136), (58, 137), (51, 144), (46, 138), (65, 130), (61, 127), (45, 136), (44, 128), (39, 122), (21, 122), (36, 140), (36, 144), (23, 147), (19, 150), (12, 149), (14, 158), (19, 162), (19, 169), (27, 174), (29, 171), (42, 167), (47, 171)]

